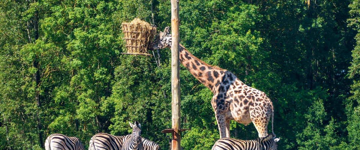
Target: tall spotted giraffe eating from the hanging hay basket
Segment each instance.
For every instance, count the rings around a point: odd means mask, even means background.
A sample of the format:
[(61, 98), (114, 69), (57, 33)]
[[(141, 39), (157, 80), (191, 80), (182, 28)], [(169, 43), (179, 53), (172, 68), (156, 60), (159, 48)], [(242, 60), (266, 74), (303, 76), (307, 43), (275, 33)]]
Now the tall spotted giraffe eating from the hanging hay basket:
[[(170, 27), (150, 44), (150, 50), (171, 47)], [(214, 94), (212, 108), (219, 127), (220, 138), (230, 137), (230, 120), (245, 126), (253, 122), (259, 137), (267, 136), (267, 125), (271, 120), (274, 133), (274, 106), (266, 94), (249, 87), (233, 73), (217, 66), (206, 64), (196, 58), (180, 44), (181, 64)]]

